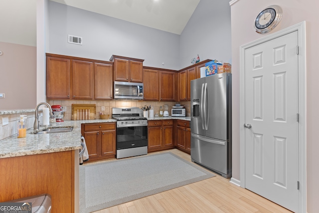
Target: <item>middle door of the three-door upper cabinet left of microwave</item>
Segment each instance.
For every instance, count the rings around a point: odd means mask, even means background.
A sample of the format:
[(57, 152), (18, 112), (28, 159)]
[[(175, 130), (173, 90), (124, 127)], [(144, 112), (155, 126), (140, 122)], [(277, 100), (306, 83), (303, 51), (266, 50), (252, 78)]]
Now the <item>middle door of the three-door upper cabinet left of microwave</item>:
[(93, 99), (93, 63), (72, 60), (72, 98)]

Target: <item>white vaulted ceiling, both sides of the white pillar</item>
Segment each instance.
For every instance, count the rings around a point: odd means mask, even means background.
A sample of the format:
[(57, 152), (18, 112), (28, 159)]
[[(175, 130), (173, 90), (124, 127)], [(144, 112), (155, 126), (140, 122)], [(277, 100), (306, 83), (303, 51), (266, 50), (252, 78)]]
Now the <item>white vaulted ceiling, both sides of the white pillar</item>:
[[(52, 0), (181, 34), (200, 0)], [(0, 41), (36, 46), (37, 0), (0, 0)]]

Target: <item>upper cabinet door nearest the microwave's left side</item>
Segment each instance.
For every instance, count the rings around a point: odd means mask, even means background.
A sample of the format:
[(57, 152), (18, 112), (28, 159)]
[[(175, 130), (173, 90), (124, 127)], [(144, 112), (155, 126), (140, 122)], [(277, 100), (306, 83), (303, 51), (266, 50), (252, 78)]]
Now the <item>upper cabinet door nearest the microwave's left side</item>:
[(94, 99), (113, 98), (113, 65), (94, 63)]

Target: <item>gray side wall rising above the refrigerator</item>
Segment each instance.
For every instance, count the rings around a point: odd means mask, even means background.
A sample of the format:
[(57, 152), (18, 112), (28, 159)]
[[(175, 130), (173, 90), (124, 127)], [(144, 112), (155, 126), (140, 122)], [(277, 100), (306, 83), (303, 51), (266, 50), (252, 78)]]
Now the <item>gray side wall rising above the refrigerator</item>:
[(200, 60), (231, 63), (231, 19), (229, 0), (200, 0), (180, 35), (180, 67)]

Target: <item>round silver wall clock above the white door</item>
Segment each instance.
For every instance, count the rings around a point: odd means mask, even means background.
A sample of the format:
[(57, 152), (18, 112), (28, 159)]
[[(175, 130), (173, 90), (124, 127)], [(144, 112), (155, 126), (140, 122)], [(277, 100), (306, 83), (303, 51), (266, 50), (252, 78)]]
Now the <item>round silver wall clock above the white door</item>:
[(278, 5), (263, 9), (255, 19), (255, 29), (258, 33), (266, 33), (275, 28), (283, 16), (283, 10)]

